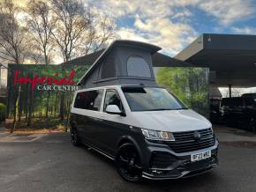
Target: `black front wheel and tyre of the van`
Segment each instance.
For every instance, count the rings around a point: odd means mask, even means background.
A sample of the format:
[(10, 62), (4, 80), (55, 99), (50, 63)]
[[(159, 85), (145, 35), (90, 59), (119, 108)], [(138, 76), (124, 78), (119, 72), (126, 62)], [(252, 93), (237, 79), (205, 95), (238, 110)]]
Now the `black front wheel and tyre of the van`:
[(139, 152), (133, 144), (123, 144), (116, 158), (117, 172), (125, 181), (139, 182), (142, 179)]

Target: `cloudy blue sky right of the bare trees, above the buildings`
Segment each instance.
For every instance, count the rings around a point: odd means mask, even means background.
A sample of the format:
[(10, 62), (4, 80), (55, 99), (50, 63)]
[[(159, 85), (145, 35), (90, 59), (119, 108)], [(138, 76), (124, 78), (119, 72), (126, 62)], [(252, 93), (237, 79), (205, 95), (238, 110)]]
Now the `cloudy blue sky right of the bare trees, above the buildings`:
[(122, 39), (177, 55), (201, 33), (256, 34), (256, 0), (84, 0), (117, 20)]

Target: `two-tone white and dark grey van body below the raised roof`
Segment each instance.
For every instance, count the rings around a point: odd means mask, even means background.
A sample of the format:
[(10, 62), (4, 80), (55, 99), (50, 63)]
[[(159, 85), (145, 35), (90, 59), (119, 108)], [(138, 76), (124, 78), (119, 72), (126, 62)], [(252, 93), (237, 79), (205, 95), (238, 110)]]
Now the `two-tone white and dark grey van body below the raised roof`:
[(72, 144), (116, 160), (127, 181), (188, 177), (218, 164), (211, 123), (160, 87), (79, 90), (71, 112)]

